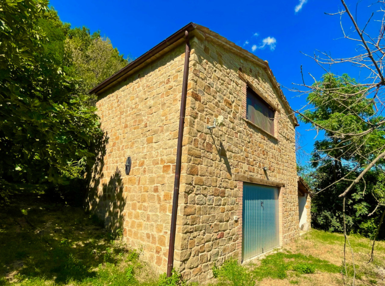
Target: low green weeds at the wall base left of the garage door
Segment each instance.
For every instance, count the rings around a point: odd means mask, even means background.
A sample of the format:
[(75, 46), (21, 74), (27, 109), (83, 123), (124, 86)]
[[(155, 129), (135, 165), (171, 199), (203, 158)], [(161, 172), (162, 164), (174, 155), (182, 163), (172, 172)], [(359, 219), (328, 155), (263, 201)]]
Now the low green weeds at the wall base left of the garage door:
[(252, 273), (242, 267), (235, 259), (229, 259), (221, 267), (214, 266), (213, 275), (219, 284), (230, 283), (232, 286), (253, 286), (255, 280)]

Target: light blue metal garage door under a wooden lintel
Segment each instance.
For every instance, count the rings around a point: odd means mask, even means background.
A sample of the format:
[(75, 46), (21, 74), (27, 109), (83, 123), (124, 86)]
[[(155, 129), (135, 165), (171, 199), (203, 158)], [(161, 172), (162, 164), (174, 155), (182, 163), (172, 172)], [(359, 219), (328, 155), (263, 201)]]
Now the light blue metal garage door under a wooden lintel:
[(243, 184), (242, 260), (279, 246), (278, 188)]

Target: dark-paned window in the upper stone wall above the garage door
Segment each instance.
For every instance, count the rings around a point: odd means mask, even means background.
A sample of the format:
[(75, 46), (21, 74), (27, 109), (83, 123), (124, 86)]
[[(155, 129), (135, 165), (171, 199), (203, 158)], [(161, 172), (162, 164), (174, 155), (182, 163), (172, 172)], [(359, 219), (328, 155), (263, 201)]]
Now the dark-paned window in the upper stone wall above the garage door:
[(274, 110), (249, 87), (246, 92), (246, 118), (274, 135)]

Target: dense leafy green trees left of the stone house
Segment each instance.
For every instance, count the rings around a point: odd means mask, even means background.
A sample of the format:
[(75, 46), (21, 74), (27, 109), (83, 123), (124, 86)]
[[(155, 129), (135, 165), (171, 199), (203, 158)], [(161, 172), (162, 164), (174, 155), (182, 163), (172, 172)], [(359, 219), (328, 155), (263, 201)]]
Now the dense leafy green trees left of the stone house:
[(45, 0), (1, 1), (0, 39), (2, 180), (81, 175), (102, 136), (87, 91), (127, 60), (100, 33), (63, 24)]

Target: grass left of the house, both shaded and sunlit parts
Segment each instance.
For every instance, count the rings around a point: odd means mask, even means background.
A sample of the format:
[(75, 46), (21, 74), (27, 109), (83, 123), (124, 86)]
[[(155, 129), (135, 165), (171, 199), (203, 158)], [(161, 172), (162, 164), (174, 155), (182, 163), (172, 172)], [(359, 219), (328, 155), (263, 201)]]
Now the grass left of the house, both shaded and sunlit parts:
[(20, 196), (0, 209), (0, 230), (1, 286), (157, 285), (140, 253), (97, 217), (44, 194)]

